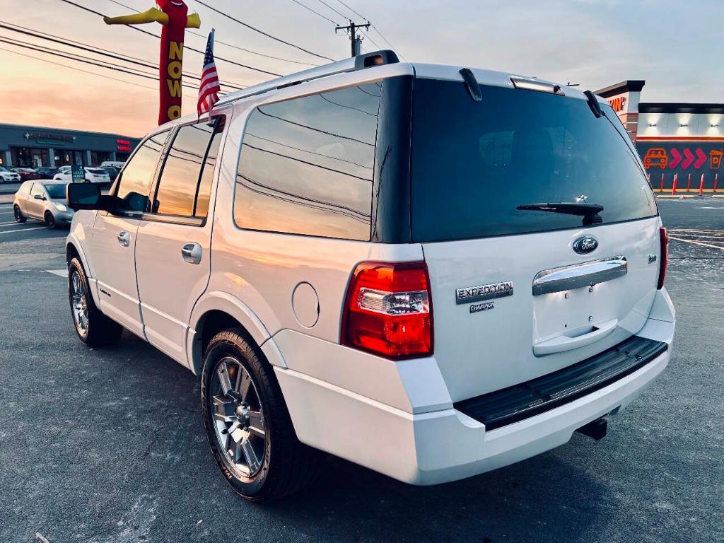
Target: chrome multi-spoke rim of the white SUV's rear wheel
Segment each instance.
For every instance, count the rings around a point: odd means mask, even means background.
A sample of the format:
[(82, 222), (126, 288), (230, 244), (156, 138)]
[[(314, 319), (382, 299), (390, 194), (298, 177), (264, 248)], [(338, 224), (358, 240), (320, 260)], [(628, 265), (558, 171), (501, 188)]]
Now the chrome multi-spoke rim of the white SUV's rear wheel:
[(224, 463), (244, 477), (264, 464), (266, 425), (256, 385), (235, 358), (222, 358), (211, 376), (211, 413)]

